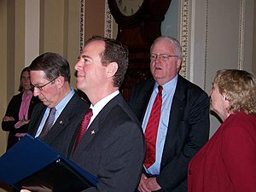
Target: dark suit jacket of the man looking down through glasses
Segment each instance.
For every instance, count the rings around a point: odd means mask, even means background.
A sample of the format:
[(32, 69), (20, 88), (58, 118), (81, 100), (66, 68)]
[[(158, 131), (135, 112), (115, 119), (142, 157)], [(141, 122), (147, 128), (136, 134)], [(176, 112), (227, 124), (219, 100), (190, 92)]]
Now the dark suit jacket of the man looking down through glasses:
[[(32, 135), (32, 137), (35, 137), (38, 131), (38, 126), (43, 119), (46, 108), (43, 103), (38, 104), (36, 108), (34, 108), (28, 130), (28, 133)], [(68, 148), (73, 134), (84, 118), (84, 113), (88, 108), (90, 108), (90, 104), (84, 102), (79, 97), (78, 93), (75, 93), (58, 119), (56, 119), (55, 124), (52, 126), (47, 136), (44, 137), (44, 142), (55, 149), (56, 152), (68, 157), (70, 154)]]

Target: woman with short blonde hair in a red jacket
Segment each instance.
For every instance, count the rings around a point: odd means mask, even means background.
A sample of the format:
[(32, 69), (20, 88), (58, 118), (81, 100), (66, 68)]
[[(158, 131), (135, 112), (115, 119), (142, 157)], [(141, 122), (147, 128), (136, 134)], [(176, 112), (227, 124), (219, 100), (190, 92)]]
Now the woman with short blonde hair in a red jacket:
[(189, 192), (256, 189), (256, 79), (243, 70), (217, 72), (211, 109), (223, 123), (189, 162)]

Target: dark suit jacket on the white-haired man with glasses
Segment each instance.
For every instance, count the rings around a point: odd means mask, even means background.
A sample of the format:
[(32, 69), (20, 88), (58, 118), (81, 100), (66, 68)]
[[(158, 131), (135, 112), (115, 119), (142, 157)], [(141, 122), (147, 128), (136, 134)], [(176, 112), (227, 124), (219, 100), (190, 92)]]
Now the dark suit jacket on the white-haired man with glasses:
[[(154, 79), (138, 83), (131, 91), (129, 104), (143, 122)], [(209, 99), (195, 84), (178, 75), (172, 100), (166, 143), (156, 177), (161, 191), (187, 191), (189, 160), (207, 142), (209, 136)]]

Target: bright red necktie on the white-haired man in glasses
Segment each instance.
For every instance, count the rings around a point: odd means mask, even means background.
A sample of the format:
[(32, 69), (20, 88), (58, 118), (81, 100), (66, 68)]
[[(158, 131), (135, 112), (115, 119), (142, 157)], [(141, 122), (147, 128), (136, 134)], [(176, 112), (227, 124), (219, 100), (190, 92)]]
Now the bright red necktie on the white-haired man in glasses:
[(151, 113), (148, 119), (148, 124), (145, 130), (145, 139), (146, 139), (146, 157), (144, 160), (144, 166), (148, 169), (148, 167), (152, 166), (155, 161), (155, 143), (157, 137), (157, 131), (159, 127), (160, 121), (160, 113), (162, 107), (162, 86), (158, 86), (158, 94), (154, 99), (154, 104), (151, 109)]

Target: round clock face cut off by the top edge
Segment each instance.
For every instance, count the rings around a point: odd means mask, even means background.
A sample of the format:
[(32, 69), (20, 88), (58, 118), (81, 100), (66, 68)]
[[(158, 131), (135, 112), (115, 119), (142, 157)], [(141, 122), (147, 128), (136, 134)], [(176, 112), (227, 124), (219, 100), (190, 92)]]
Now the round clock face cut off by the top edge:
[(143, 0), (116, 0), (119, 11), (125, 16), (134, 15), (143, 4)]

